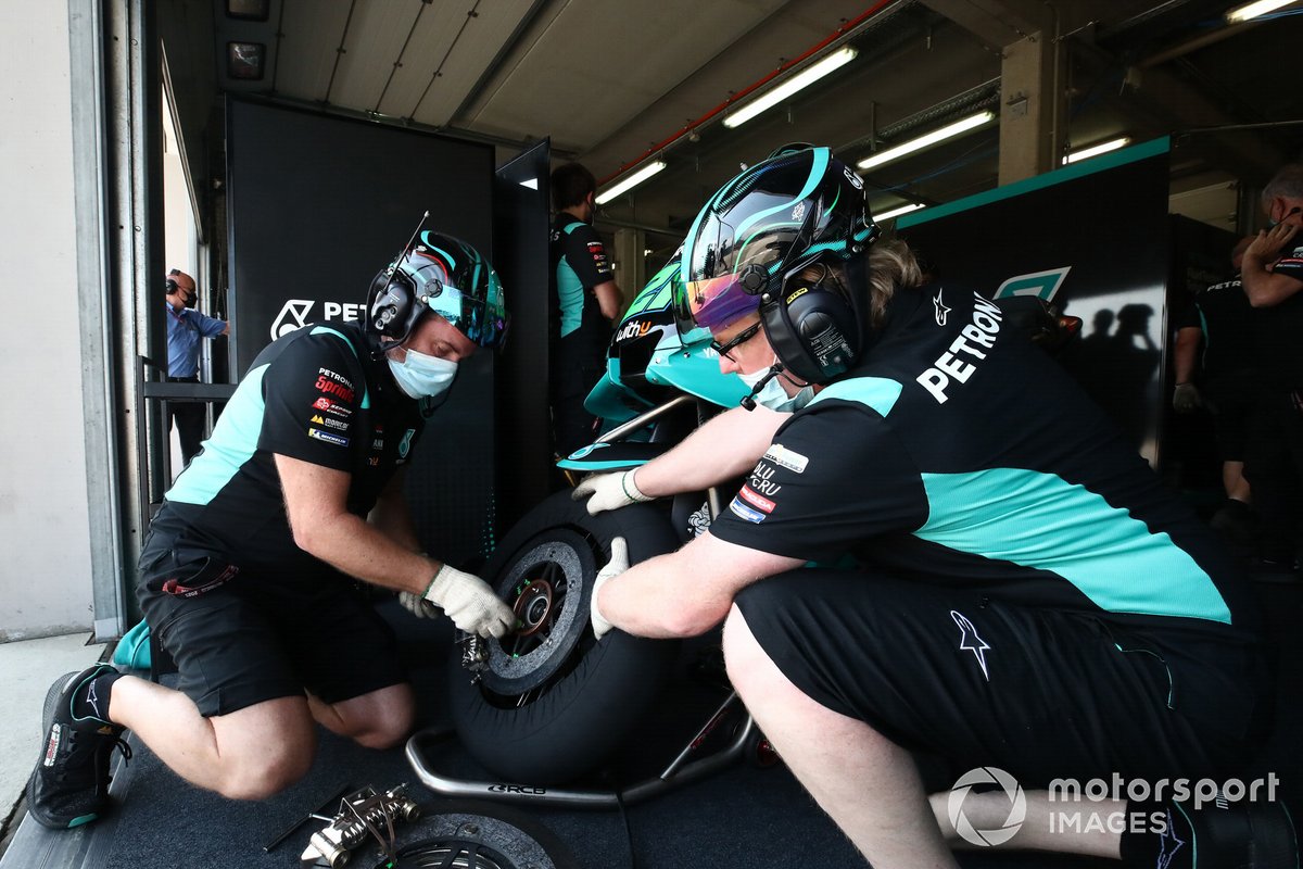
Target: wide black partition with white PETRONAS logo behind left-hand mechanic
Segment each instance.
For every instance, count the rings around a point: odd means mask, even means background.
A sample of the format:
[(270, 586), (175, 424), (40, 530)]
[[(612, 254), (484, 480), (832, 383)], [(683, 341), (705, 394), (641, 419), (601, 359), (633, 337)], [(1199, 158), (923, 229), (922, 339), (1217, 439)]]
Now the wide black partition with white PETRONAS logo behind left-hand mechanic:
[[(253, 100), (227, 115), (233, 379), (279, 335), (358, 319), (371, 278), (427, 229), (493, 259), (493, 149)], [(494, 358), (461, 366), (408, 469), (431, 555), (465, 564), (493, 546)]]

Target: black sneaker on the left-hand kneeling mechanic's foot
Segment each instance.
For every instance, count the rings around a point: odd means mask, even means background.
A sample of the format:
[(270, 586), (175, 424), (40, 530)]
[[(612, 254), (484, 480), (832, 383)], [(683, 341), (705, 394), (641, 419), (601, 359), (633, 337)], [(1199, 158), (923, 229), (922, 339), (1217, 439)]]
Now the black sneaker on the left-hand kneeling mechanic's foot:
[(91, 679), (112, 671), (95, 664), (55, 680), (46, 694), (44, 745), (27, 779), (27, 814), (52, 830), (90, 823), (108, 805), (108, 762), (113, 749), (125, 762), (132, 756), (122, 727), (73, 711), (77, 692)]

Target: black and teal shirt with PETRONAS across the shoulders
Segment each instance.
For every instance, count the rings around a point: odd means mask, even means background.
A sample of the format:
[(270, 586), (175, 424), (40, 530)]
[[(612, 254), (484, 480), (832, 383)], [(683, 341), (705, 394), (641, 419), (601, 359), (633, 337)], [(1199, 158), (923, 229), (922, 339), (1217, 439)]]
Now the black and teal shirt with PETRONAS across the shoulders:
[(1227, 554), (1063, 370), (971, 289), (900, 291), (711, 533), (1196, 631), (1252, 627)]

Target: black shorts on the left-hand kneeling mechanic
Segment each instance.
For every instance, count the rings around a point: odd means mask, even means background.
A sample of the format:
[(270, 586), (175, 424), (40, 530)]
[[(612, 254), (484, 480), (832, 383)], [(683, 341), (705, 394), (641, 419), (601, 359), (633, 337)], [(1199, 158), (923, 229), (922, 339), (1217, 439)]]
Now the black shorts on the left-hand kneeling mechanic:
[[(176, 662), (177, 688), (202, 715), (305, 691), (335, 704), (408, 680), (394, 632), (356, 581), (324, 565), (292, 577), (228, 575), (228, 567), (159, 528), (141, 554), (141, 610)], [(172, 593), (164, 590), (171, 578), (179, 580)]]

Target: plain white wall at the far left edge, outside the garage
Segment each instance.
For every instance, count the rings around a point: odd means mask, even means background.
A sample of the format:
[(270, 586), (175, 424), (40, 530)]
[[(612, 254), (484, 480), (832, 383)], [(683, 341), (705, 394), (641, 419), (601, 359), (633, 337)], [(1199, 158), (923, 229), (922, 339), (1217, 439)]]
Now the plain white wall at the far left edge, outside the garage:
[(94, 615), (68, 4), (0, 0), (0, 641), (8, 641), (89, 631)]

